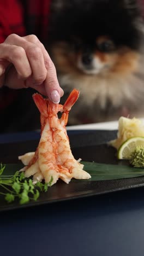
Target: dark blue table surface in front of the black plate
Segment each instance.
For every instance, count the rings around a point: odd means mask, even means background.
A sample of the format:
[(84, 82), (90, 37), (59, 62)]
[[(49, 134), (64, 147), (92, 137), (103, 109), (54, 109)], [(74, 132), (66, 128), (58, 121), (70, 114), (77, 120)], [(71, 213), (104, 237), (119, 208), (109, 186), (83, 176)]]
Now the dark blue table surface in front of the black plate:
[(0, 213), (0, 255), (144, 254), (144, 188)]

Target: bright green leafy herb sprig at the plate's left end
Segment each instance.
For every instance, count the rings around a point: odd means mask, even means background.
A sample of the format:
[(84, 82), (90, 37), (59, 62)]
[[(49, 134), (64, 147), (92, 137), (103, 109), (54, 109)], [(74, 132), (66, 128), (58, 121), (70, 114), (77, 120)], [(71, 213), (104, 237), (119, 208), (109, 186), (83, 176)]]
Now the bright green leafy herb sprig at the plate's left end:
[(0, 165), (0, 187), (3, 195), (7, 202), (13, 202), (18, 199), (20, 205), (29, 202), (30, 200), (37, 201), (40, 192), (46, 192), (47, 188), (51, 186), (49, 183), (37, 182), (33, 184), (32, 179), (26, 179), (23, 172), (16, 171), (14, 175), (2, 175), (5, 169), (5, 165)]

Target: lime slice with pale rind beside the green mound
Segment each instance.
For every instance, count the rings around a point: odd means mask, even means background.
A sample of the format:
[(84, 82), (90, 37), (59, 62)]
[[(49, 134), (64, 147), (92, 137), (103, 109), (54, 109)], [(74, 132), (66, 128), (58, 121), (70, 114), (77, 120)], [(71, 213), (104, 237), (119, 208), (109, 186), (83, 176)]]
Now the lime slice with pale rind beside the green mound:
[(118, 149), (118, 159), (130, 159), (131, 153), (134, 152), (137, 146), (144, 147), (144, 137), (132, 137), (127, 139)]

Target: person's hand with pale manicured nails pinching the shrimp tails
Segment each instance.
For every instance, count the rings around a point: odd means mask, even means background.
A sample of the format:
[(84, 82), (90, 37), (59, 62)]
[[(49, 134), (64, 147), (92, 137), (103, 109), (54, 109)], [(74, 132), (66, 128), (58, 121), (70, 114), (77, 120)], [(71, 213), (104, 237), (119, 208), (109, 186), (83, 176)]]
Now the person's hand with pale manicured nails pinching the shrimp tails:
[(34, 35), (10, 34), (0, 44), (0, 88), (31, 87), (58, 103), (63, 95), (56, 68), (44, 45)]

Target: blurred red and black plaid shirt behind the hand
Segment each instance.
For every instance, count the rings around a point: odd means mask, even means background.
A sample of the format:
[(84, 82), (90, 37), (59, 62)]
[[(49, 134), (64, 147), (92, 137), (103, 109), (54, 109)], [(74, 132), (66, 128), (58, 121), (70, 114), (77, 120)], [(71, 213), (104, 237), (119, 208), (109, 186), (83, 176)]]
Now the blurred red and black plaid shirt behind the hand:
[[(47, 39), (50, 0), (0, 0), (0, 43), (16, 33), (19, 36), (35, 34), (41, 42)], [(17, 97), (16, 90), (0, 90), (0, 110)]]

